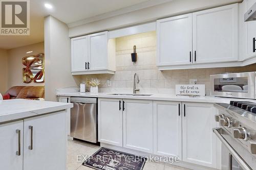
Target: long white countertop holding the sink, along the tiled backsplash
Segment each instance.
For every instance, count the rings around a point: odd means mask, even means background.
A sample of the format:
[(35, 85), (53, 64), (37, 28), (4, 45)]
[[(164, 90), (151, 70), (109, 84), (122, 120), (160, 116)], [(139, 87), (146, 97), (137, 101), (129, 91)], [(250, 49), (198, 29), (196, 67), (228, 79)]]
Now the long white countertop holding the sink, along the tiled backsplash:
[(153, 94), (151, 96), (134, 96), (134, 95), (110, 95), (113, 93), (98, 93), (90, 94), (88, 92), (57, 92), (57, 96), (77, 96), (77, 97), (89, 97), (89, 98), (113, 98), (113, 99), (139, 99), (139, 100), (156, 100), (156, 101), (177, 101), (177, 102), (200, 102), (200, 103), (229, 103), (231, 100), (239, 101), (252, 101), (255, 100), (243, 100), (233, 98), (220, 98), (215, 96), (176, 96), (172, 94)]

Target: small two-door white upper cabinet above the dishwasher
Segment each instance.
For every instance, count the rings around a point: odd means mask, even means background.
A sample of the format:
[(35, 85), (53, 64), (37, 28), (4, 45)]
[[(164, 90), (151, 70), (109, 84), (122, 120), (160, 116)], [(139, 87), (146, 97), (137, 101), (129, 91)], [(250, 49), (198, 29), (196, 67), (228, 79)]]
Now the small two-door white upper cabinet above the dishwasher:
[(72, 75), (114, 74), (115, 57), (107, 31), (71, 39)]

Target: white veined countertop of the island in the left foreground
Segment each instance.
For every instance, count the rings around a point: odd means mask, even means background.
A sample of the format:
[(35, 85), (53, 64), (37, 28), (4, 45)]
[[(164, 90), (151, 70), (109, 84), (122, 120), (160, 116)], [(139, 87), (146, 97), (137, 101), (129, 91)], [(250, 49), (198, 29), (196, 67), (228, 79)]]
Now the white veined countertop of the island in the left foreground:
[(71, 103), (47, 102), (26, 99), (0, 101), (0, 124), (31, 116), (72, 108)]

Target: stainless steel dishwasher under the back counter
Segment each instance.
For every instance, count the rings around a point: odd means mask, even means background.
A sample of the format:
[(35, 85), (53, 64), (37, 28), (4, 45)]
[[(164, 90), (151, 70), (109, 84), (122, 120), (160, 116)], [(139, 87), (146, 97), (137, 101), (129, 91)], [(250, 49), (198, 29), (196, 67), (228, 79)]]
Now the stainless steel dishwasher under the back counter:
[(97, 98), (71, 98), (70, 136), (97, 143)]

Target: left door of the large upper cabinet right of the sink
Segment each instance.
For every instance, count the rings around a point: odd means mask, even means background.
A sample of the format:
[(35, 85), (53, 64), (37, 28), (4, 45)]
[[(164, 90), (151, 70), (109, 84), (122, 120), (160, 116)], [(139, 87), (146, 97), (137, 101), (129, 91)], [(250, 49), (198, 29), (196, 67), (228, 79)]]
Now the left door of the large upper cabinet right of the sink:
[(192, 61), (192, 14), (157, 20), (157, 51), (159, 66)]

